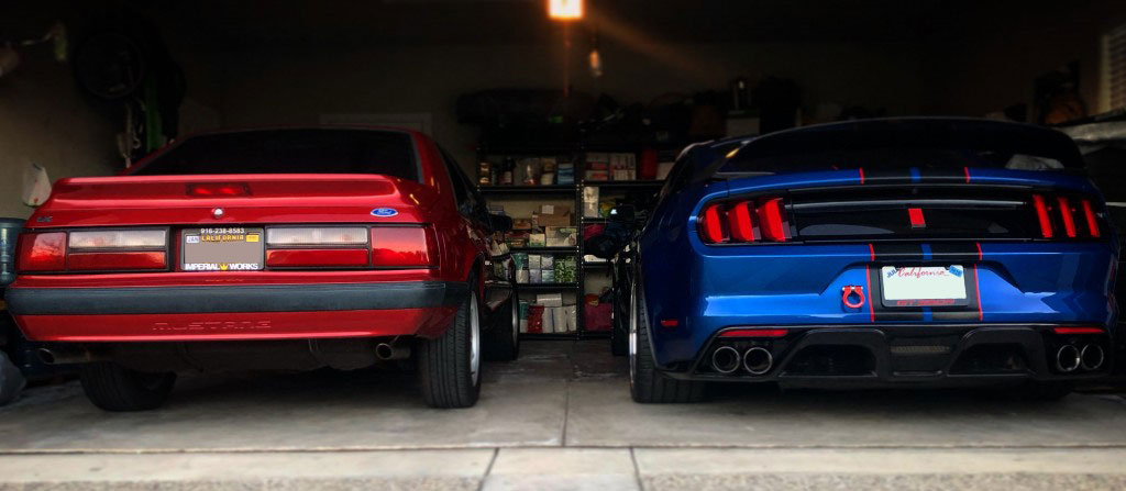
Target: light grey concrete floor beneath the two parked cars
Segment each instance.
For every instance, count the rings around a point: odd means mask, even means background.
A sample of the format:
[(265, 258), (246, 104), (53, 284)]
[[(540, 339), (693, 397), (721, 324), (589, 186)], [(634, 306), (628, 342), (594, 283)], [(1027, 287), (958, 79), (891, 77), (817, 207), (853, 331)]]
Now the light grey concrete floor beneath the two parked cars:
[(778, 392), (640, 406), (605, 342), (526, 343), (473, 409), (413, 375), (185, 378), (164, 409), (106, 413), (71, 382), (0, 408), (0, 490), (1123, 489), (1126, 400)]

